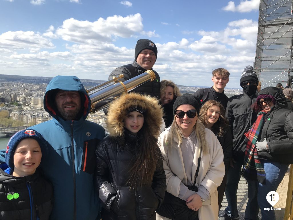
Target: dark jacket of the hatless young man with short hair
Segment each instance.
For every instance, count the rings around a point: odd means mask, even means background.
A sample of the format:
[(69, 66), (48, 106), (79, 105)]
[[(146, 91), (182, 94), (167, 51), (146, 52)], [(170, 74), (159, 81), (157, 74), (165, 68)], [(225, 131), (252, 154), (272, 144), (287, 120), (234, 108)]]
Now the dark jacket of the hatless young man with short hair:
[[(207, 96), (207, 99), (203, 100), (205, 89), (209, 89), (209, 94)], [(205, 89), (198, 89), (194, 93), (194, 95), (197, 97), (197, 100), (200, 104), (200, 108), (208, 100), (215, 100), (215, 101), (218, 101), (219, 103), (221, 103), (224, 106), (224, 109), (226, 109), (229, 98), (226, 96), (226, 94), (224, 94), (224, 91), (223, 92), (216, 92), (216, 90), (214, 90), (214, 87), (205, 88)]]

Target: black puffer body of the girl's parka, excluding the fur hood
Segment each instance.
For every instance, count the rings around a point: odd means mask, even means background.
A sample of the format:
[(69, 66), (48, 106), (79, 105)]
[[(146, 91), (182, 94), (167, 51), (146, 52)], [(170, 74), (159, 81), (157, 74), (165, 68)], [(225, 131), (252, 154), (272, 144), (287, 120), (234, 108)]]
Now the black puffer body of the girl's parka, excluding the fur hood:
[[(163, 202), (166, 175), (158, 160), (153, 179), (130, 189), (127, 180), (139, 138), (126, 133), (125, 144), (107, 136), (96, 149), (96, 187), (103, 204), (102, 219), (156, 219), (155, 209)], [(159, 150), (159, 149), (158, 149)]]

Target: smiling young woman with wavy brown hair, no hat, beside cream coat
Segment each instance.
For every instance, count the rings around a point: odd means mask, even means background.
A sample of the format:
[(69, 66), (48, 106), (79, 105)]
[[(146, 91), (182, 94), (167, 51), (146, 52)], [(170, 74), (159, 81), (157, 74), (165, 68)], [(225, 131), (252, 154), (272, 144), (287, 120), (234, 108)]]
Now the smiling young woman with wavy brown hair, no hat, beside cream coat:
[(233, 151), (232, 134), (229, 121), (225, 118), (225, 109), (222, 104), (214, 100), (207, 101), (201, 107), (200, 116), (198, 119), (206, 128), (214, 132), (223, 148), (225, 176), (221, 185), (219, 185), (217, 188), (219, 194), (218, 204), (220, 211), (226, 187), (227, 171), (229, 169), (230, 159), (232, 157)]

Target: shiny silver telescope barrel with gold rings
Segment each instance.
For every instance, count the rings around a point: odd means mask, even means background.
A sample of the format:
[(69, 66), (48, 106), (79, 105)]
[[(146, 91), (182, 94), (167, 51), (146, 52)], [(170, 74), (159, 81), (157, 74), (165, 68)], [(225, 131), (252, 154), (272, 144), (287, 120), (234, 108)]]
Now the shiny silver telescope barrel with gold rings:
[(128, 79), (125, 82), (117, 81), (115, 84), (103, 87), (96, 92), (89, 94), (91, 99), (91, 113), (101, 110), (109, 105), (109, 103), (119, 97), (122, 93), (130, 92), (139, 87), (145, 82), (151, 82), (156, 79), (154, 71), (147, 70), (146, 72)]

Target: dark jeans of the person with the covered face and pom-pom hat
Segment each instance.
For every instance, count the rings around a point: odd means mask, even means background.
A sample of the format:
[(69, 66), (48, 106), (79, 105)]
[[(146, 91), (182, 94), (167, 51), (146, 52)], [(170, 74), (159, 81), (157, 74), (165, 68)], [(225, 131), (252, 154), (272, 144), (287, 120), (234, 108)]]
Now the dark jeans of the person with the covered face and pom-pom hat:
[[(238, 155), (234, 158), (236, 163), (234, 163), (234, 167), (229, 168), (227, 175), (227, 183), (226, 183), (226, 199), (228, 202), (228, 207), (226, 207), (225, 212), (229, 216), (238, 217), (237, 210), (237, 189), (240, 180), (240, 174), (242, 170), (242, 166), (244, 164), (244, 155)], [(258, 182), (247, 180), (248, 184), (248, 202), (245, 210), (245, 220), (259, 220), (258, 218)]]

